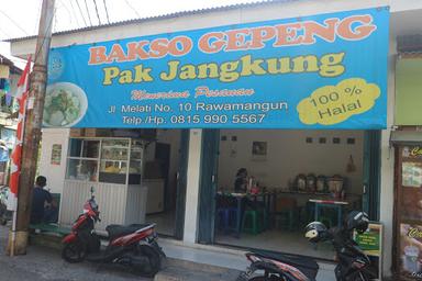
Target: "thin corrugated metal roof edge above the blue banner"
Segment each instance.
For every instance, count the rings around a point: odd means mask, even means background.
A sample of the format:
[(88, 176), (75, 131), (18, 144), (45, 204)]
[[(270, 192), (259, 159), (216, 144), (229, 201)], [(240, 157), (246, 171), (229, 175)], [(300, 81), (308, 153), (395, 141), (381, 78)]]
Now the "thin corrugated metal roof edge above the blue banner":
[[(119, 21), (119, 22), (101, 24), (101, 25), (86, 26), (86, 27), (68, 30), (68, 31), (60, 31), (60, 32), (53, 33), (53, 36), (73, 34), (73, 33), (85, 32), (85, 31), (93, 31), (93, 30), (99, 30), (99, 29), (103, 29), (103, 27), (122, 26), (122, 25), (129, 25), (129, 24), (133, 24), (133, 23), (143, 23), (143, 22), (156, 21), (156, 20), (175, 19), (175, 18), (184, 16), (184, 15), (193, 15), (193, 14), (200, 14), (200, 13), (230, 11), (230, 10), (235, 10), (235, 9), (240, 9), (240, 8), (254, 8), (254, 7), (259, 7), (259, 5), (264, 5), (264, 4), (288, 3), (288, 2), (297, 2), (297, 1), (302, 1), (302, 0), (262, 0), (262, 1), (251, 2), (251, 3), (238, 3), (238, 4), (231, 4), (231, 5), (197, 9), (197, 10), (191, 10), (191, 11), (181, 11), (181, 12), (175, 12), (175, 13), (168, 13), (168, 14), (162, 14), (162, 15), (154, 15), (154, 16), (147, 16), (147, 18), (141, 18), (141, 19)], [(20, 42), (20, 41), (25, 41), (25, 40), (33, 40), (36, 37), (37, 37), (37, 35), (30, 35), (30, 36), (24, 36), (24, 37), (3, 40), (3, 42), (14, 43), (14, 42)]]

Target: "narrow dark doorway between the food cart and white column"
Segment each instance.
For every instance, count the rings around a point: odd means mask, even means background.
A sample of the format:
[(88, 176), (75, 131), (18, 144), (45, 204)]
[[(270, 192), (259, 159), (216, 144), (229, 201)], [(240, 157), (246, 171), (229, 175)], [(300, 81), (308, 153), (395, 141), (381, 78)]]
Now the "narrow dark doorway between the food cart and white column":
[(158, 234), (178, 239), (184, 235), (188, 134), (157, 130), (156, 142), (145, 149), (146, 222), (156, 223)]

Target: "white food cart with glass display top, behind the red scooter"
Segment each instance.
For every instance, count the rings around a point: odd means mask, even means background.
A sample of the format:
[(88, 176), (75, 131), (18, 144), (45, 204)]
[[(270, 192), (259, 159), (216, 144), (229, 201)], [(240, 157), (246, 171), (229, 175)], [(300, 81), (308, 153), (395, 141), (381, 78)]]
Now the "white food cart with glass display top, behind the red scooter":
[(144, 139), (70, 137), (60, 221), (71, 223), (93, 188), (101, 202), (97, 229), (145, 223), (148, 190), (142, 182)]

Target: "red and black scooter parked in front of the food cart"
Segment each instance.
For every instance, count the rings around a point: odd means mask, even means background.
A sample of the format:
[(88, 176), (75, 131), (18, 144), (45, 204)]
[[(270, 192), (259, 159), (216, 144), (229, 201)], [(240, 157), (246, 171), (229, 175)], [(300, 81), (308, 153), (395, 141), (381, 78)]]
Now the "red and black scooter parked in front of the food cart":
[(71, 233), (63, 239), (62, 257), (68, 262), (89, 260), (100, 263), (118, 263), (134, 272), (154, 277), (162, 267), (165, 254), (157, 244), (155, 224), (109, 225), (109, 244), (100, 249), (100, 237), (95, 224), (100, 222), (98, 204), (91, 188), (91, 199), (84, 205), (84, 214), (75, 221)]

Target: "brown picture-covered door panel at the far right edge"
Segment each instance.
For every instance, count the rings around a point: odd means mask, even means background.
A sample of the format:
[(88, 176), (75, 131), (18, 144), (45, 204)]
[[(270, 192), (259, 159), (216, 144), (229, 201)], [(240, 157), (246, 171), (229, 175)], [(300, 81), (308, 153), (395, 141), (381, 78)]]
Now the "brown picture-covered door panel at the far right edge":
[(397, 269), (401, 277), (422, 276), (422, 145), (397, 150)]

